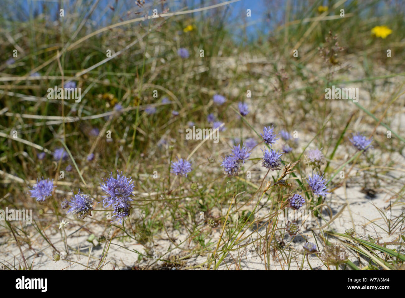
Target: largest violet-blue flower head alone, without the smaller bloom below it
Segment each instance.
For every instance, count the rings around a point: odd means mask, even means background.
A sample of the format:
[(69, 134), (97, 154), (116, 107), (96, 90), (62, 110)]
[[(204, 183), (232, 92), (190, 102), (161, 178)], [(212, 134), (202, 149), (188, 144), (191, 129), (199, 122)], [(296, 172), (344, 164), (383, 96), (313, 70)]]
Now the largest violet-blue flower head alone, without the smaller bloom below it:
[(117, 171), (117, 178), (114, 178), (111, 172), (107, 181), (104, 181), (104, 185), (101, 183), (100, 185), (102, 191), (107, 194), (107, 196), (103, 197), (103, 205), (107, 205), (107, 207), (111, 205), (125, 206), (128, 201), (132, 201), (132, 198), (130, 198), (134, 190), (132, 177), (127, 178), (122, 175), (122, 172), (120, 175)]

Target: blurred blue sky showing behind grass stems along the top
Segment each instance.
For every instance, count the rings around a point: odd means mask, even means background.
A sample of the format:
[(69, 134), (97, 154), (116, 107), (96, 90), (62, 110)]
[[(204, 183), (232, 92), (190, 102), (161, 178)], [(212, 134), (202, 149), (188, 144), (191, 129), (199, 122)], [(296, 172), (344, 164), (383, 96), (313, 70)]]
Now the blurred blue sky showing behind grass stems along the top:
[[(44, 13), (45, 15), (49, 16), (49, 19), (56, 20), (58, 18), (58, 4), (59, 0), (4, 0), (7, 1), (9, 4), (7, 6), (9, 9), (4, 9), (2, 12), (2, 17), (8, 20), (23, 20), (26, 21), (30, 17), (30, 15), (37, 15)], [(64, 7), (66, 11), (69, 12), (77, 12), (81, 10), (81, 13), (77, 13), (77, 15), (83, 16), (83, 12), (88, 12), (90, 7), (96, 0), (79, 0), (81, 1), (82, 5), (80, 7), (75, 6), (75, 3), (78, 0), (65, 0), (63, 1)], [(316, 0), (314, 0), (316, 1)], [(347, 6), (350, 2), (354, 0), (347, 0), (345, 6)], [(165, 7), (170, 7), (170, 11), (179, 11), (180, 9), (195, 9), (200, 7), (206, 7), (209, 5), (226, 2), (225, 0), (167, 0)], [(315, 2), (315, 6), (319, 4), (327, 5), (330, 0), (318, 0)], [(160, 1), (155, 0), (153, 1), (146, 1), (146, 4), (151, 4), (147, 8), (147, 12), (149, 15), (152, 15), (152, 10), (154, 8), (158, 9), (158, 12), (162, 12), (161, 5), (159, 4)], [(290, 0), (290, 3), (293, 4), (294, 7), (299, 7), (303, 5), (303, 3), (307, 3), (303, 0)], [(362, 3), (362, 2), (359, 2)], [(380, 6), (383, 6), (386, 1), (379, 1)], [(304, 4), (305, 5), (305, 4)], [(109, 9), (109, 6), (114, 7), (114, 11)], [(330, 6), (330, 4), (329, 4)], [(281, 25), (285, 18), (285, 8), (286, 8), (286, 1), (285, 0), (241, 0), (239, 2), (234, 2), (232, 4), (228, 4), (227, 6), (222, 6), (217, 11), (220, 11), (217, 15), (225, 15), (226, 20), (224, 23), (232, 32), (234, 36), (238, 38), (239, 36), (243, 36), (240, 34), (241, 26), (246, 26), (246, 33), (250, 40), (253, 40), (258, 32), (269, 33), (277, 26)], [(96, 30), (98, 28), (102, 28), (104, 26), (108, 26), (112, 23), (119, 21), (117, 18), (113, 19), (113, 16), (119, 15), (122, 17), (123, 20), (126, 19), (133, 19), (139, 15), (135, 15), (134, 11), (137, 10), (137, 6), (135, 4), (135, 0), (100, 0), (98, 2), (97, 8), (94, 11), (91, 19), (92, 19), (92, 26), (93, 29)], [(251, 17), (246, 16), (246, 10), (251, 10)], [(305, 6), (301, 8), (301, 11), (307, 11), (309, 7)], [(126, 12), (132, 11), (132, 13), (127, 16)], [(190, 17), (213, 17), (213, 13), (215, 10), (207, 10), (199, 13), (195, 13), (194, 15), (189, 15)], [(386, 12), (386, 11), (385, 11)], [(377, 13), (384, 13), (384, 8), (378, 9)], [(66, 13), (66, 15), (68, 15)], [(307, 15), (310, 16), (310, 15)]]

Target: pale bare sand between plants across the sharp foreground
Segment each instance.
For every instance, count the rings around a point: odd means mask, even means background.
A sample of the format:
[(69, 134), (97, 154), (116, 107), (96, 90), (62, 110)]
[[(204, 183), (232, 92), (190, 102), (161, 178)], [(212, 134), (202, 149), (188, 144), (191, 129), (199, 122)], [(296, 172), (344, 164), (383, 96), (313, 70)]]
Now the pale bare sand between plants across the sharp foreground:
[[(335, 193), (330, 196), (327, 200), (327, 204), (333, 210), (334, 215), (342, 208), (342, 206), (349, 202), (349, 205), (345, 207), (343, 213), (335, 220), (332, 224), (330, 224), (330, 228), (335, 230), (336, 232), (343, 233), (348, 228), (354, 228), (356, 230), (356, 237), (363, 238), (367, 240), (367, 235), (372, 236), (373, 238), (378, 239), (380, 244), (388, 241), (393, 241), (397, 238), (398, 234), (394, 233), (391, 236), (379, 228), (378, 226), (382, 226), (386, 228), (386, 224), (381, 217), (381, 214), (377, 211), (377, 208), (384, 210), (389, 205), (389, 195), (386, 194), (377, 194), (375, 198), (369, 198), (363, 192), (360, 192), (360, 187), (347, 187), (346, 190), (341, 187), (335, 191)], [(392, 215), (399, 215), (403, 212), (403, 207), (399, 205), (395, 205), (394, 208), (391, 209)], [(260, 213), (265, 213), (265, 210), (262, 209)], [(261, 215), (261, 214), (259, 214)], [(326, 219), (329, 219), (326, 212), (324, 212), (324, 216)], [(319, 224), (324, 224), (325, 221), (319, 220)], [(283, 222), (280, 223), (281, 225)], [(90, 266), (94, 268), (98, 265), (99, 260), (102, 256), (103, 247), (94, 247), (87, 241), (87, 238), (91, 233), (95, 235), (106, 234), (106, 231), (102, 231), (98, 225), (93, 224), (89, 219), (85, 220), (83, 228), (76, 232), (77, 228), (70, 228), (72, 225), (68, 224), (66, 227), (66, 234), (72, 234), (68, 237), (67, 243), (72, 248), (75, 248), (76, 251), (70, 251), (70, 255), (64, 256), (65, 260), (60, 260), (55, 262), (52, 260), (54, 249), (48, 245), (48, 243), (38, 234), (32, 237), (32, 249), (29, 249), (27, 245), (22, 247), (23, 254), (27, 259), (28, 263), (34, 262), (33, 268), (35, 270), (83, 270), (86, 269), (85, 266)], [(91, 227), (91, 228), (90, 228)], [(309, 242), (315, 242), (313, 240), (313, 234), (311, 232), (311, 228), (318, 227), (318, 224), (315, 220), (311, 221), (311, 223), (304, 224), (301, 226), (301, 234), (303, 237), (307, 238)], [(88, 228), (89, 231), (85, 230)], [(187, 245), (183, 242), (186, 238), (187, 231), (183, 233), (179, 233), (179, 231), (170, 231), (168, 230), (171, 239), (175, 239), (175, 242), (184, 248), (188, 248)], [(253, 230), (251, 230), (253, 232)], [(212, 230), (212, 239), (217, 241), (220, 234), (220, 228), (216, 227)], [(252, 237), (253, 239), (259, 238), (260, 235), (265, 234), (265, 230), (259, 230), (258, 233), (255, 233)], [(49, 235), (49, 240), (51, 243), (55, 245), (55, 247), (65, 252), (63, 241), (60, 241), (61, 236), (60, 234), (53, 234)], [(290, 270), (295, 270), (299, 268), (300, 261), (302, 260), (302, 254), (299, 255), (299, 252), (302, 252), (302, 246), (305, 243), (305, 239), (301, 236), (296, 236), (294, 239), (289, 236), (288, 234), (284, 236), (283, 241), (286, 244), (287, 248), (292, 249), (292, 251), (297, 251), (294, 253), (298, 255), (297, 263), (294, 264), (294, 261), (291, 262)], [(182, 251), (181, 249), (174, 248), (174, 245), (168, 240), (166, 234), (161, 234), (160, 236), (156, 237), (155, 245), (153, 247), (153, 251), (156, 252), (156, 258), (162, 259), (170, 259), (172, 256), (182, 257), (187, 255), (187, 251)], [(334, 241), (333, 238), (330, 238), (331, 242), (338, 242), (337, 240)], [(94, 243), (97, 243), (94, 240)], [(318, 243), (320, 244), (319, 238)], [(257, 246), (257, 244), (256, 244)], [(4, 247), (4, 246), (3, 246)], [(125, 247), (126, 249), (124, 249)], [(391, 249), (399, 249), (397, 245), (388, 245), (388, 248)], [(174, 249), (173, 249), (174, 248)], [(128, 250), (127, 250), (128, 249)], [(160, 260), (152, 260), (149, 259), (147, 261), (143, 261), (140, 264), (137, 262), (138, 254), (131, 251), (135, 249), (141, 253), (145, 253), (145, 249), (143, 249), (142, 245), (136, 243), (135, 241), (118, 241), (117, 239), (111, 242), (111, 246), (109, 249), (109, 253), (107, 255), (107, 259), (105, 261), (105, 265), (103, 266), (104, 270), (111, 270), (111, 269), (121, 269), (125, 270), (128, 268), (132, 268), (134, 266), (143, 266), (143, 265), (153, 265), (153, 268), (162, 268), (168, 267), (164, 265), (165, 262)], [(167, 251), (169, 251), (167, 253)], [(322, 247), (320, 248), (322, 250)], [(401, 251), (405, 253), (404, 248), (401, 248)], [(80, 252), (78, 254), (77, 252)], [(89, 257), (89, 253), (91, 257)], [(357, 266), (366, 266), (368, 261), (365, 259), (360, 258), (361, 264), (359, 265), (359, 259), (357, 255), (355, 255), (352, 251), (347, 251), (349, 260), (351, 260)], [(182, 268), (184, 266), (196, 266), (201, 264), (207, 260), (208, 255), (201, 255), (194, 258), (188, 258), (184, 260), (181, 264), (183, 266), (179, 266)], [(288, 269), (288, 262), (285, 262), (281, 256), (275, 256), (274, 259), (270, 262), (270, 269), (272, 270), (286, 270)], [(22, 262), (21, 255), (19, 253), (19, 248), (15, 244), (15, 242), (9, 243), (6, 245), (5, 249), (2, 249), (1, 258), (5, 259), (7, 262), (10, 263), (19, 263)], [(232, 252), (228, 255), (225, 259), (226, 265), (222, 264), (219, 269), (230, 269), (235, 270), (237, 268), (241, 268), (242, 270), (261, 270), (265, 269), (265, 261), (263, 255), (258, 255), (258, 252), (255, 250), (252, 245), (247, 246), (246, 249), (241, 249), (241, 251)], [(239, 267), (239, 261), (241, 260), (241, 264)], [(75, 263), (77, 262), (77, 263)], [(236, 262), (236, 264), (235, 264)], [(309, 262), (312, 268), (317, 268), (319, 270), (326, 270), (326, 266), (322, 264), (322, 262), (315, 256), (309, 255)], [(85, 266), (84, 266), (85, 265)], [(1, 268), (1, 267), (0, 267)], [(171, 269), (172, 267), (170, 267)], [(304, 262), (303, 268), (305, 270), (309, 269), (307, 262)], [(205, 266), (202, 266), (199, 269), (206, 269)], [(331, 267), (333, 270), (333, 266)]]

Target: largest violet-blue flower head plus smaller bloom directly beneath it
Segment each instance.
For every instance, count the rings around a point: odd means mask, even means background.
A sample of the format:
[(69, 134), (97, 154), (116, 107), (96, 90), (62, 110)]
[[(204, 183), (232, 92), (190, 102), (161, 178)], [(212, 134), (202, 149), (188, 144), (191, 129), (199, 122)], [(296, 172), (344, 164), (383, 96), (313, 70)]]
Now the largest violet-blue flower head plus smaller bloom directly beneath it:
[(117, 171), (117, 178), (114, 178), (111, 172), (107, 182), (104, 181), (104, 185), (100, 185), (102, 191), (107, 194), (107, 196), (103, 197), (103, 205), (107, 205), (107, 207), (111, 205), (114, 206), (115, 215), (113, 217), (116, 217), (115, 220), (119, 220), (121, 224), (122, 220), (129, 215), (131, 208), (129, 201), (132, 201), (130, 196), (132, 196), (134, 189), (132, 177), (127, 178), (122, 175), (122, 172), (120, 175)]

